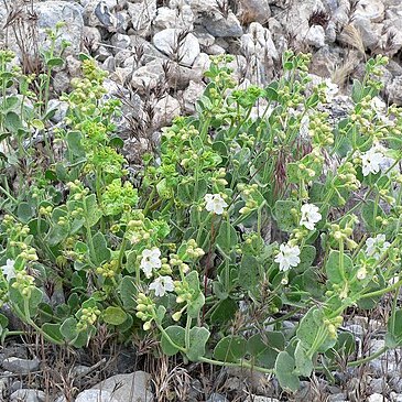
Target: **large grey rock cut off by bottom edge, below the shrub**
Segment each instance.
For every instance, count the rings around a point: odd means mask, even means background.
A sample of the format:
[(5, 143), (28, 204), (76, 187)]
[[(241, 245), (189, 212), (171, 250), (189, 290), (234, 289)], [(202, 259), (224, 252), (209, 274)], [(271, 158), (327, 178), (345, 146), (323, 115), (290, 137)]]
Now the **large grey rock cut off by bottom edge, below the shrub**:
[[(130, 374), (117, 374), (99, 382), (90, 391), (101, 390), (112, 394), (110, 402), (153, 402), (150, 389), (150, 376), (144, 371), (135, 371)], [(82, 400), (76, 402), (89, 402)], [(94, 402), (98, 402), (94, 400)]]

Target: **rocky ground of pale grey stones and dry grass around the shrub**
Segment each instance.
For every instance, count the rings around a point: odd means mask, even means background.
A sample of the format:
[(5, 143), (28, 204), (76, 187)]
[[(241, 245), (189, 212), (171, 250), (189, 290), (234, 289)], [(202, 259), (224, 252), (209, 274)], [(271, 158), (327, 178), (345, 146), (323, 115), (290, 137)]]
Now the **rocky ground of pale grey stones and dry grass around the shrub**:
[[(34, 3), (34, 4), (33, 4)], [(365, 61), (390, 56), (384, 70), (389, 102), (402, 104), (401, 0), (80, 0), (0, 3), (0, 42), (13, 48), (26, 72), (46, 46), (46, 28), (66, 25), (61, 40), (70, 42), (66, 63), (54, 75), (53, 91), (68, 91), (79, 74), (78, 55), (89, 53), (110, 73), (110, 96), (123, 100), (120, 133), (135, 163), (152, 146), (157, 132), (174, 116), (195, 112), (203, 94), (203, 72), (209, 56), (235, 55), (232, 67), (241, 85), (265, 85), (280, 74), (281, 54), (291, 47), (311, 52), (311, 73), (332, 77), (347, 94)], [(32, 18), (32, 17), (35, 18)], [(15, 26), (19, 29), (15, 30)], [(57, 108), (55, 123), (66, 105)], [(382, 308), (376, 319), (351, 317), (358, 355), (384, 343)], [(293, 323), (289, 323), (293, 325)], [(4, 401), (402, 401), (400, 351), (356, 370), (334, 372), (328, 382), (317, 376), (293, 396), (282, 394), (274, 379), (232, 370), (200, 374), (199, 368), (154, 366), (143, 350), (100, 348), (78, 354), (55, 350), (32, 337), (8, 341), (0, 349), (0, 390)], [(139, 369), (144, 371), (139, 371)], [(192, 371), (193, 370), (193, 371)], [(148, 372), (145, 372), (148, 371)], [(192, 377), (189, 377), (189, 373)], [(193, 374), (195, 373), (195, 374)], [(206, 381), (208, 379), (208, 381)], [(0, 396), (1, 400), (1, 396)]]

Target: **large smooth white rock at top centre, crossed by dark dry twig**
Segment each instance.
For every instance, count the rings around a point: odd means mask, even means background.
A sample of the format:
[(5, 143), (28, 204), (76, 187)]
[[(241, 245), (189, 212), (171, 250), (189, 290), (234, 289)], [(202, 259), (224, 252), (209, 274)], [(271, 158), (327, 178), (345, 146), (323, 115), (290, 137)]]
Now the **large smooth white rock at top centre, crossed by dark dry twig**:
[(192, 33), (176, 29), (157, 32), (153, 36), (152, 43), (173, 61), (186, 66), (192, 66), (200, 53), (197, 39)]

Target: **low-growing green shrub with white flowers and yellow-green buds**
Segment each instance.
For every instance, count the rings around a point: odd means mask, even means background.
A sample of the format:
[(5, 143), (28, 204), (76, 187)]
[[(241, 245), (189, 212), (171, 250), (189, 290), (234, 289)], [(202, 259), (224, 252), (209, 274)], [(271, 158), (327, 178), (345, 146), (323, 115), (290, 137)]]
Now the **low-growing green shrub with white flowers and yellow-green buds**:
[[(84, 347), (100, 325), (121, 341), (150, 333), (167, 356), (274, 373), (294, 391), (354, 352), (346, 308), (400, 290), (402, 113), (378, 98), (381, 56), (341, 119), (308, 55), (286, 52), (267, 88), (238, 88), (229, 61), (213, 59), (196, 116), (165, 128), (133, 174), (119, 102), (84, 59), (64, 126), (42, 130), (56, 156), (4, 178), (1, 297), (55, 344)], [(401, 314), (394, 303), (376, 356), (402, 344)]]

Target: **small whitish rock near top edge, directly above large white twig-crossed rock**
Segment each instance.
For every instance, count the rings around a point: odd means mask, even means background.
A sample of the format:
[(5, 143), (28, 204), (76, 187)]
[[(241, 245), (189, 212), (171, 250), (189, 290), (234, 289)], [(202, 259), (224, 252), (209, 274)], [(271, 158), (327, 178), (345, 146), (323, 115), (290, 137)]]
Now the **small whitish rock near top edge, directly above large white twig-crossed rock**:
[(183, 4), (177, 8), (161, 7), (156, 11), (156, 17), (153, 21), (154, 32), (163, 31), (169, 28), (178, 30), (193, 31), (194, 13), (189, 6)]

